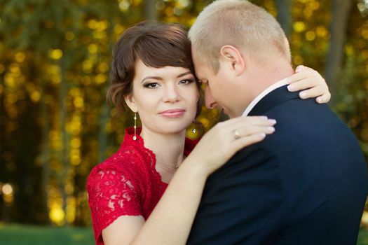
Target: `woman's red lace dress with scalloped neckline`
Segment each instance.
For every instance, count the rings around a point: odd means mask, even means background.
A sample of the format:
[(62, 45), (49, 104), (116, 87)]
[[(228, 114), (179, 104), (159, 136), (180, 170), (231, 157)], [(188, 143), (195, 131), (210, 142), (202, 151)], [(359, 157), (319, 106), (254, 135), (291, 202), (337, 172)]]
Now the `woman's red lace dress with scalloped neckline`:
[[(138, 130), (139, 134), (140, 129)], [(125, 130), (121, 148), (95, 166), (87, 180), (88, 203), (96, 244), (104, 244), (102, 230), (119, 216), (143, 216), (147, 219), (168, 186), (155, 169), (156, 156), (134, 130)], [(188, 155), (196, 141), (186, 139)]]

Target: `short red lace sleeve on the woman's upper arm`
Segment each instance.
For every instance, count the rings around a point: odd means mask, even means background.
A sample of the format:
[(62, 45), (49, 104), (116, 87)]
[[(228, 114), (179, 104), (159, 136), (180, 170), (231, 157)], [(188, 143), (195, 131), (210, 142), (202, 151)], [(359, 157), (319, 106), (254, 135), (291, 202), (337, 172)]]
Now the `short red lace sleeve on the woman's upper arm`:
[(96, 243), (102, 230), (123, 215), (142, 215), (134, 180), (114, 169), (93, 169), (87, 181), (88, 202)]

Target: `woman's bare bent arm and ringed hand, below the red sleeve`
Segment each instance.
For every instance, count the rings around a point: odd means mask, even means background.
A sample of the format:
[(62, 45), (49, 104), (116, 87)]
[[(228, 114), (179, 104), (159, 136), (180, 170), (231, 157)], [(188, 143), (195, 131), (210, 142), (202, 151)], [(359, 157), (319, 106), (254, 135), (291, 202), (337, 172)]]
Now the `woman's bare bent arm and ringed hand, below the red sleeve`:
[(102, 231), (104, 243), (185, 244), (207, 176), (241, 148), (273, 133), (274, 124), (264, 117), (218, 123), (184, 160), (147, 221), (142, 216), (119, 217)]

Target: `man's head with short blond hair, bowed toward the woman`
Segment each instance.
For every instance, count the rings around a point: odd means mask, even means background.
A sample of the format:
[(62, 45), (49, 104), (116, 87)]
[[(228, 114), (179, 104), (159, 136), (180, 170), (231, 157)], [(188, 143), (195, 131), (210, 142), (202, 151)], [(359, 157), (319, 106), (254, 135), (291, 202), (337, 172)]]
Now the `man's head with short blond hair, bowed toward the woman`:
[(197, 76), (208, 83), (207, 107), (219, 104), (229, 116), (240, 116), (254, 99), (252, 87), (257, 87), (261, 67), (280, 59), (290, 62), (289, 45), (278, 22), (245, 0), (211, 3), (198, 15), (189, 39)]

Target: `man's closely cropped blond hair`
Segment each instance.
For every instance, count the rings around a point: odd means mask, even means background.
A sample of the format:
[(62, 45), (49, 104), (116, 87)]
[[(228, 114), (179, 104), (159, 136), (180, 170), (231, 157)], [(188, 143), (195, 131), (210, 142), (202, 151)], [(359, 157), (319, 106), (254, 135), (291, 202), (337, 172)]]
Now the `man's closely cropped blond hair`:
[(224, 45), (245, 51), (260, 64), (271, 61), (272, 55), (291, 59), (280, 24), (264, 8), (245, 0), (217, 0), (205, 7), (189, 30), (189, 39), (196, 57), (214, 72)]

